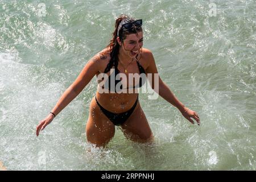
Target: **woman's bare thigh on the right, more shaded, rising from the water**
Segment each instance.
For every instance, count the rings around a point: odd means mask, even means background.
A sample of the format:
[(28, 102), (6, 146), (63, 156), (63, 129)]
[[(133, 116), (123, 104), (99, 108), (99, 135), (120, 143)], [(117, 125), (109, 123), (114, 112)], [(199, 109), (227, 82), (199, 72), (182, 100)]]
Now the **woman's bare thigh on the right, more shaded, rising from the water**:
[(130, 115), (121, 127), (125, 137), (134, 140), (135, 142), (149, 142), (153, 138), (147, 118), (139, 102), (135, 107), (133, 114)]

